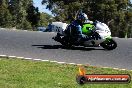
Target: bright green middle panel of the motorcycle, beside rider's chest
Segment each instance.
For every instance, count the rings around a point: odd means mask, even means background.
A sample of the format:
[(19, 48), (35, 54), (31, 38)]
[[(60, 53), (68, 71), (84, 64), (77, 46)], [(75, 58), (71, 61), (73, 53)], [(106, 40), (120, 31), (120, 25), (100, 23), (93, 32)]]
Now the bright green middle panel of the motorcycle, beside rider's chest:
[(82, 33), (85, 35), (90, 35), (91, 30), (94, 29), (94, 25), (92, 24), (84, 24), (82, 27)]

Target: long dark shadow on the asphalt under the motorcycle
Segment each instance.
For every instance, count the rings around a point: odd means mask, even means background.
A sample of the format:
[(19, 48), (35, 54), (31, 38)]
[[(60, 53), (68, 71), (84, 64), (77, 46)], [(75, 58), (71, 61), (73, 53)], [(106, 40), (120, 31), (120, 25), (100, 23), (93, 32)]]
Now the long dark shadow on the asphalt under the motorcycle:
[(98, 48), (94, 48), (94, 47), (64, 47), (62, 45), (32, 45), (35, 46), (37, 48), (41, 48), (41, 49), (66, 49), (66, 50), (82, 50), (82, 51), (91, 51), (91, 50), (105, 50), (105, 49), (98, 49)]

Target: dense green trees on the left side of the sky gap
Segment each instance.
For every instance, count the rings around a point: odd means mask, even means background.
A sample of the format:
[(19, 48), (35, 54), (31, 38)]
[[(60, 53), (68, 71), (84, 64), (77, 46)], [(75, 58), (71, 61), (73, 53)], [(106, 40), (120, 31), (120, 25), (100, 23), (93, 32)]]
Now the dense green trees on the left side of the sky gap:
[(51, 16), (40, 13), (33, 0), (0, 0), (0, 27), (32, 30), (47, 26)]

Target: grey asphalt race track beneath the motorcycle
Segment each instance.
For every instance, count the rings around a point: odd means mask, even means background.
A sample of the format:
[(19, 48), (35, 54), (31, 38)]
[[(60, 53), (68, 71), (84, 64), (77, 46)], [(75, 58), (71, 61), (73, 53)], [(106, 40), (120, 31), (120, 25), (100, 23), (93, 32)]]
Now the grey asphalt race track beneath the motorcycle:
[(111, 51), (102, 47), (65, 49), (52, 40), (55, 34), (0, 29), (0, 54), (132, 70), (132, 39), (115, 38), (118, 47)]

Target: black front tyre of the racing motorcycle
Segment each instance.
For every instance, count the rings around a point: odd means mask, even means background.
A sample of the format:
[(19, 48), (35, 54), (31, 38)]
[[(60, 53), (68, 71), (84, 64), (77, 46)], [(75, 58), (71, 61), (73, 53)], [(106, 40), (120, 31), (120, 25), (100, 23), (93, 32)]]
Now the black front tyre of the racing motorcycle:
[(100, 45), (107, 50), (113, 50), (117, 47), (117, 43), (113, 39), (106, 39), (106, 41), (104, 41)]

